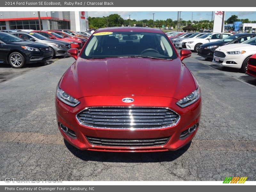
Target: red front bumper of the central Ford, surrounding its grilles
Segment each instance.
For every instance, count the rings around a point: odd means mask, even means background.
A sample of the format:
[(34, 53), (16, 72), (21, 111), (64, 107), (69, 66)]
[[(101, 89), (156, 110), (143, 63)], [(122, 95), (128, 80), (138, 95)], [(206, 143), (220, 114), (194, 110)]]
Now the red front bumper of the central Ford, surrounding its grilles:
[[(176, 105), (177, 100), (172, 98), (162, 97), (147, 97), (136, 96), (134, 98), (133, 106), (139, 107), (168, 107), (180, 115), (180, 120), (177, 124), (171, 127), (159, 128), (159, 129), (104, 129), (88, 127), (80, 124), (76, 119), (76, 114), (82, 111), (86, 107), (96, 106), (116, 106), (126, 107), (131, 104), (125, 104), (121, 100), (127, 96), (93, 96), (79, 99), (80, 104), (75, 108), (66, 105), (59, 99), (55, 99), (56, 116), (59, 130), (62, 136), (70, 144), (81, 150), (95, 150), (95, 151), (115, 151), (115, 152), (151, 152), (151, 151), (168, 151), (177, 150), (190, 142), (195, 136), (199, 127), (199, 120), (201, 115), (201, 98), (194, 104), (180, 108)], [(113, 102), (114, 101), (114, 102)], [(145, 103), (147, 101), (147, 103)], [(75, 133), (76, 137), (70, 136), (62, 131), (60, 124), (68, 127), (70, 133)], [(181, 138), (181, 133), (188, 130), (193, 125), (197, 125), (195, 132), (188, 134), (186, 137)], [(88, 138), (96, 138), (103, 140), (146, 140), (153, 139), (159, 140), (162, 138), (168, 138), (167, 141), (160, 146), (100, 146), (92, 144)]]

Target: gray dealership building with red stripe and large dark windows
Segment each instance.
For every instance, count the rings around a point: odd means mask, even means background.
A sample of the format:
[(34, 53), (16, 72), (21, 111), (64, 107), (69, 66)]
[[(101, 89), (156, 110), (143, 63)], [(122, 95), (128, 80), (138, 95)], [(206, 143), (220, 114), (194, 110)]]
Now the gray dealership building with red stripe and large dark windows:
[[(71, 29), (86, 31), (89, 28), (88, 12), (84, 11), (40, 11), (41, 29)], [(0, 12), (0, 30), (39, 30), (38, 12)]]

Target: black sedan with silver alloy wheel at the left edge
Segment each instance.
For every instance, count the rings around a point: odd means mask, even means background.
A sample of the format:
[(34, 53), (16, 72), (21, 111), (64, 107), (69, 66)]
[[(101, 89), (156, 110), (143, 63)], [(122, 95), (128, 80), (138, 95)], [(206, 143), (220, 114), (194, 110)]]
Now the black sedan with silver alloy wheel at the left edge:
[(26, 63), (42, 62), (52, 58), (50, 47), (0, 32), (0, 63), (21, 68)]

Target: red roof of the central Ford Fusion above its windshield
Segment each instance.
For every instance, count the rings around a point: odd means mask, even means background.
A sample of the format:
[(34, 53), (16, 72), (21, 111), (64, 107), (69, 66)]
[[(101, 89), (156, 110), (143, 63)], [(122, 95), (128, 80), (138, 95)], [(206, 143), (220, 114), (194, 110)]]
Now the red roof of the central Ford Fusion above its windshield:
[(148, 27), (109, 27), (109, 28), (99, 28), (94, 33), (99, 32), (123, 32), (123, 31), (135, 31), (135, 32), (150, 32), (150, 33), (163, 33), (161, 29), (148, 28)]

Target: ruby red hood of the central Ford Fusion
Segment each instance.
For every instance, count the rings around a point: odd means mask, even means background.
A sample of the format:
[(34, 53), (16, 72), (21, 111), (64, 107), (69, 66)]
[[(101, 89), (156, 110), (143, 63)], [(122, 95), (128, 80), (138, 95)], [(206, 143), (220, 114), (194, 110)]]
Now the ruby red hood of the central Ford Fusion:
[(197, 83), (180, 58), (78, 58), (63, 75), (59, 86), (77, 99), (103, 95), (181, 99), (193, 92)]

